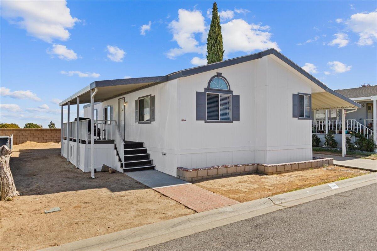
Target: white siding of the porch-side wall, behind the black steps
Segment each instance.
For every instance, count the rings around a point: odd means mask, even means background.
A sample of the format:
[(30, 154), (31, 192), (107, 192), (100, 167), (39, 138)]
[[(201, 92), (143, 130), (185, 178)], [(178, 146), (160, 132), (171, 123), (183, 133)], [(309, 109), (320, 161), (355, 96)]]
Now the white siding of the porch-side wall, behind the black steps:
[[(135, 100), (155, 95), (156, 121), (149, 124), (135, 122)], [(95, 105), (98, 119), (103, 119), (103, 108), (113, 105), (114, 120), (118, 121), (118, 99), (126, 97), (126, 140), (144, 142), (144, 146), (156, 165), (156, 170), (176, 175), (178, 149), (177, 122), (177, 80), (154, 85)], [(84, 116), (90, 117), (90, 107), (84, 109)], [(119, 123), (119, 122), (118, 122)], [(162, 156), (166, 152), (166, 156)]]

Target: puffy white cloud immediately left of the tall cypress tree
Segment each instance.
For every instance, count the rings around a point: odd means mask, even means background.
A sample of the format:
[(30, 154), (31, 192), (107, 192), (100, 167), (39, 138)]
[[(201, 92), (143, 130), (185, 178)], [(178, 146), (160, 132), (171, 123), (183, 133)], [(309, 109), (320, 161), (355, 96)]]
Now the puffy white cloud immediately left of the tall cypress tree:
[(179, 47), (170, 49), (166, 53), (168, 58), (174, 59), (190, 52), (205, 54), (205, 46), (199, 46), (199, 42), (195, 39), (197, 33), (202, 37), (207, 35), (202, 12), (179, 9), (178, 20), (170, 22), (169, 29), (173, 33), (173, 41), (176, 41)]

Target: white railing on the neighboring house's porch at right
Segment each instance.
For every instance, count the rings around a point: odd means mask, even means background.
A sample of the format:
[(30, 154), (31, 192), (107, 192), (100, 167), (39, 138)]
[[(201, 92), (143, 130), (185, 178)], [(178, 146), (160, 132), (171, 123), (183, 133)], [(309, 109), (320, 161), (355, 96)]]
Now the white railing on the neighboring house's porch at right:
[[(328, 120), (327, 123), (327, 128), (329, 131), (334, 131), (335, 133), (337, 133), (337, 131), (342, 131), (342, 120)], [(312, 131), (315, 131), (315, 133), (318, 131), (323, 131), (324, 133), (326, 131), (326, 120), (313, 120), (311, 123), (311, 129)], [(360, 132), (367, 138), (369, 138), (373, 133), (371, 129), (354, 119), (345, 120), (345, 130)]]

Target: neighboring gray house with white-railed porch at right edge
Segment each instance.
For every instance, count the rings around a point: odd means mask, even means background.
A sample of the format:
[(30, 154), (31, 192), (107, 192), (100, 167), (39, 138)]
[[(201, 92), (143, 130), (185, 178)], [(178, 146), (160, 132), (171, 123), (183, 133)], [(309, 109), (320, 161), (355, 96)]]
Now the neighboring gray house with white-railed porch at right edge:
[[(359, 103), (361, 107), (352, 113), (346, 114), (346, 133), (350, 132), (362, 132), (366, 137), (372, 137), (377, 134), (374, 132), (374, 111), (377, 109), (377, 85), (371, 85), (366, 87), (349, 88), (343, 90), (335, 90), (337, 93), (342, 94), (345, 97)], [(324, 143), (324, 135), (326, 133), (326, 110), (314, 110), (312, 113), (313, 121), (312, 129), (313, 133), (317, 133), (322, 140), (320, 146)], [(335, 138), (338, 145), (341, 145), (341, 124), (342, 113), (339, 109), (327, 110), (327, 130), (333, 130), (336, 134)]]

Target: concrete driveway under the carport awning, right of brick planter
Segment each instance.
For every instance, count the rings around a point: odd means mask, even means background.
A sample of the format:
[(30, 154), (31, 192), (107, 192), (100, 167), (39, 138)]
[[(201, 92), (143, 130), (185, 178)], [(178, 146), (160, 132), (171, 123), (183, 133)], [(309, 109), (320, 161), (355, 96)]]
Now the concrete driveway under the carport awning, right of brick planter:
[(351, 158), (325, 154), (313, 154), (313, 157), (333, 158), (334, 164), (336, 164), (337, 166), (364, 169), (372, 172), (377, 171), (377, 160), (368, 160), (363, 158)]

